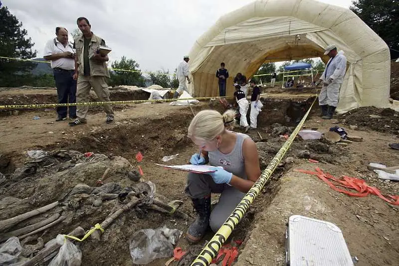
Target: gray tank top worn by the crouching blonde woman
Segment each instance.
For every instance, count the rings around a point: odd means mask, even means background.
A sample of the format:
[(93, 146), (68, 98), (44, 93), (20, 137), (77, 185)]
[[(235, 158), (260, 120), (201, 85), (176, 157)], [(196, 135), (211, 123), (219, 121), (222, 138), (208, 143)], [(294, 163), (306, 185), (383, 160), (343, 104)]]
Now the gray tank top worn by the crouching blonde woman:
[(209, 164), (213, 166), (222, 166), (226, 171), (233, 175), (247, 179), (244, 156), (242, 155), (242, 143), (245, 138), (248, 138), (249, 136), (242, 133), (233, 133), (237, 135), (237, 140), (235, 141), (233, 150), (228, 154), (221, 153), (218, 149), (215, 151), (209, 151)]

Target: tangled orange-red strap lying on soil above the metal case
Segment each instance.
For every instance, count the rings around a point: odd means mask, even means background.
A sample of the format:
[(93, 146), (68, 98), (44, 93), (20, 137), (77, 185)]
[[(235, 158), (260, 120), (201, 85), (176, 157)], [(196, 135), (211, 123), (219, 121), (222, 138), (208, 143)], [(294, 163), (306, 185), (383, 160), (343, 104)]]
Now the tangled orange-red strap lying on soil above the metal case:
[[(335, 191), (345, 193), (352, 197), (366, 197), (369, 194), (377, 195), (381, 199), (385, 200), (388, 203), (399, 205), (399, 196), (396, 195), (388, 195), (391, 199), (386, 198), (383, 194), (381, 194), (380, 190), (376, 187), (369, 186), (365, 180), (359, 179), (356, 177), (350, 177), (347, 175), (341, 176), (342, 179), (335, 178), (330, 173), (324, 173), (319, 167), (316, 167), (316, 172), (303, 170), (303, 169), (295, 169), (294, 171), (305, 173), (305, 174), (313, 174), (318, 178), (326, 182), (332, 189)], [(331, 180), (331, 181), (330, 181)], [(338, 188), (337, 186), (350, 188), (356, 190), (356, 192), (348, 191), (346, 189)]]

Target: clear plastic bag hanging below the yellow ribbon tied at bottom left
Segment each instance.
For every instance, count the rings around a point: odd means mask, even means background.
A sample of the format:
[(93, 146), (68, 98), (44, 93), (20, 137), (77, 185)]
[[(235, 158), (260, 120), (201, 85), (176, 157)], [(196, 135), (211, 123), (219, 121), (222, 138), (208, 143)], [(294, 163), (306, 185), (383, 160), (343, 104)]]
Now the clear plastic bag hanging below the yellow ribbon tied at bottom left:
[(57, 236), (57, 243), (62, 246), (48, 266), (80, 266), (82, 264), (82, 252), (78, 247), (63, 235)]

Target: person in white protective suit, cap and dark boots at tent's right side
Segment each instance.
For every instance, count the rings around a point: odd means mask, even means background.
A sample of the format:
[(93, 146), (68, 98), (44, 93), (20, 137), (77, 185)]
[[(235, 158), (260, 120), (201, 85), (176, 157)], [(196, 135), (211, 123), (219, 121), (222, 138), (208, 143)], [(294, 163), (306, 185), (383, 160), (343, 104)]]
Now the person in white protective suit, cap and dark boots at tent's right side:
[(316, 83), (323, 83), (319, 95), (319, 105), (323, 119), (331, 119), (338, 105), (341, 84), (346, 71), (346, 57), (343, 51), (337, 52), (335, 44), (327, 46), (325, 55), (330, 57), (323, 74)]

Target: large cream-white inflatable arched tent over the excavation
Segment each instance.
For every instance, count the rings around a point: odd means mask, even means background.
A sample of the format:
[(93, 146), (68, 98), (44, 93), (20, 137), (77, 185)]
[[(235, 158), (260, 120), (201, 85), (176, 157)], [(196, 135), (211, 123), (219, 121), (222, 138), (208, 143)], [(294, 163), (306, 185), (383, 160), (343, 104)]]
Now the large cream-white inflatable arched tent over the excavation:
[(229, 71), (226, 92), (232, 95), (236, 73), (249, 78), (267, 62), (320, 57), (326, 63), (323, 52), (329, 44), (348, 59), (337, 112), (388, 107), (387, 44), (351, 10), (316, 0), (257, 0), (220, 17), (190, 52), (190, 93), (217, 96), (221, 62)]

